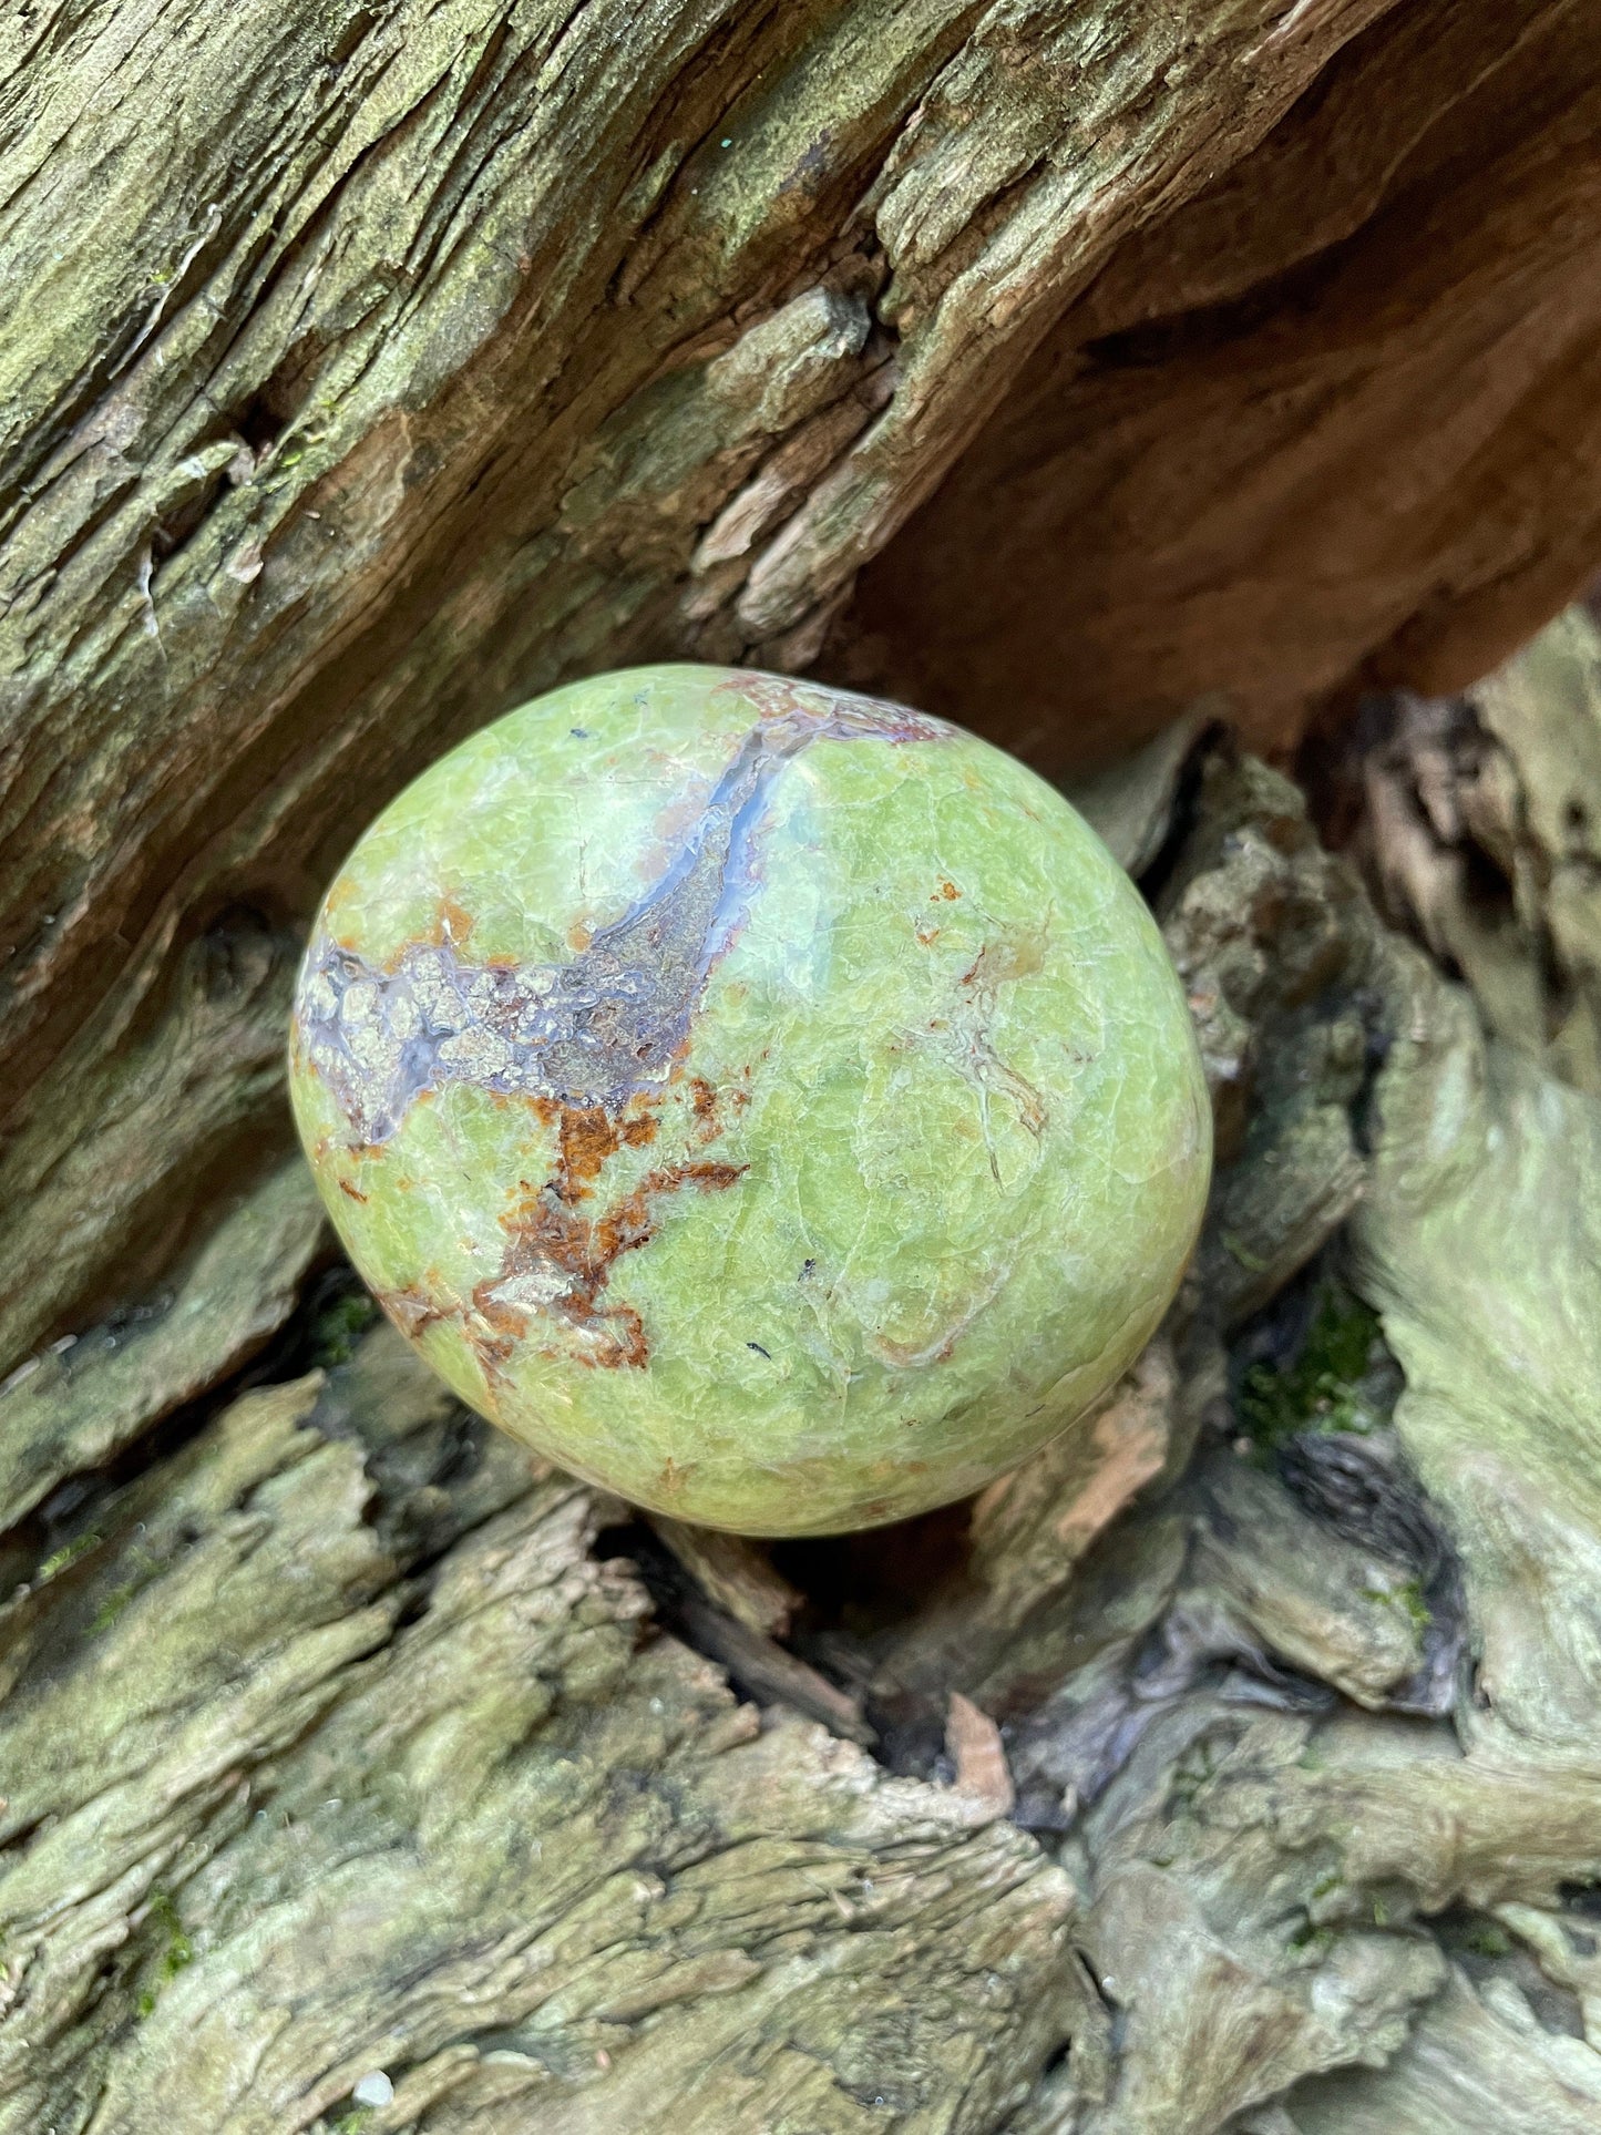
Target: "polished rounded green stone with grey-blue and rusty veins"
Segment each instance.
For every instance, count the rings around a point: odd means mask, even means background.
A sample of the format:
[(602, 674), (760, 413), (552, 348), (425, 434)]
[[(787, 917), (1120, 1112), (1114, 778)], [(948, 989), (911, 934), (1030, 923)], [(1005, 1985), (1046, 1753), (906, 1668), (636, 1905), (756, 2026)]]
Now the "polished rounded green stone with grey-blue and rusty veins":
[(1059, 792), (709, 666), (542, 696), (384, 809), (290, 1087), (352, 1262), (463, 1401), (758, 1535), (905, 1518), (1082, 1418), (1210, 1166), (1161, 935)]

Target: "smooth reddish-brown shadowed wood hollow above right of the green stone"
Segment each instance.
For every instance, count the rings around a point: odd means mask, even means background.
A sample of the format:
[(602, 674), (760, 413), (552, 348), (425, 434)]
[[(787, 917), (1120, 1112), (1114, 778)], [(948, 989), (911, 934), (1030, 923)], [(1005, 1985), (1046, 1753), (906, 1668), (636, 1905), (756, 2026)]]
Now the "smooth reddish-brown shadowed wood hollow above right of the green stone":
[(854, 673), (1046, 769), (1210, 690), (1283, 747), (1475, 681), (1601, 555), (1599, 117), (1582, 9), (1370, 21), (1067, 303), (865, 572)]

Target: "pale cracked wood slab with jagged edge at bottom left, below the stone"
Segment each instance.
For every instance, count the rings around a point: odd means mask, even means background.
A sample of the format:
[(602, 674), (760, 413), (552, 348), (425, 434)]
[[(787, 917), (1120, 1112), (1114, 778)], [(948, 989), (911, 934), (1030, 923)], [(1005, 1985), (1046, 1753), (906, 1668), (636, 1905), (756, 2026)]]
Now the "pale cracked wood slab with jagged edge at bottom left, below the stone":
[(384, 1330), (245, 1394), (21, 1591), (0, 2126), (280, 2135), (374, 2071), (374, 2129), (1018, 2103), (1082, 1996), (1067, 1877), (640, 1650), (602, 1512)]

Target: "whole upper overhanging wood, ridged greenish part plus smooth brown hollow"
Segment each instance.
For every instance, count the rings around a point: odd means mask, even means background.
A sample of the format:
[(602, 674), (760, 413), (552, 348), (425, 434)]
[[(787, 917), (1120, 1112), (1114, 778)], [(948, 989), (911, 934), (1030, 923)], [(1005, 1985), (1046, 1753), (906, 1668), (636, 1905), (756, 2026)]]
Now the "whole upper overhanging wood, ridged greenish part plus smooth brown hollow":
[(833, 630), (1063, 769), (1501, 643), (1601, 547), (1558, 0), (0, 36), (0, 1373), (273, 1159), (320, 880), (514, 698)]

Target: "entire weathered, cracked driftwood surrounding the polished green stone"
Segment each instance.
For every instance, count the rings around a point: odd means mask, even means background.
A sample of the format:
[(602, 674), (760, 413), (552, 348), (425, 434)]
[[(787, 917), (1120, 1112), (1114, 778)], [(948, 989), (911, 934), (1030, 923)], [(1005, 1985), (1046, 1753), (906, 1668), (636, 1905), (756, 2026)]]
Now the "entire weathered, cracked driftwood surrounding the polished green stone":
[[(2, 2135), (1592, 2129), (1601, 640), (1467, 685), (1601, 551), (1595, 23), (4, 38)], [(1189, 986), (1168, 1326), (909, 1529), (532, 1467), (288, 1146), (344, 845), (660, 655), (1078, 777)]]

